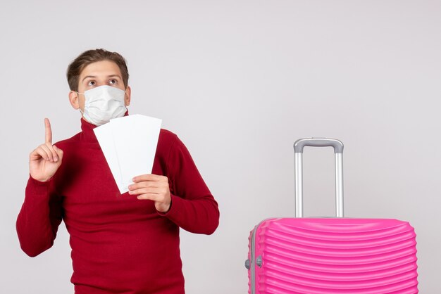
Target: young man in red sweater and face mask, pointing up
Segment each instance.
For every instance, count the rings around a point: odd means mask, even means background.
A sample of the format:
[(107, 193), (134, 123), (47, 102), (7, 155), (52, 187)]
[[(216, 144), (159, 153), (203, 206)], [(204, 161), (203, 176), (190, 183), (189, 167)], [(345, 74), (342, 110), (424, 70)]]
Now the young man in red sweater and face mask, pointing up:
[(44, 120), (46, 139), (30, 153), (17, 219), (21, 248), (32, 257), (47, 250), (63, 220), (76, 294), (185, 293), (179, 228), (212, 234), (219, 220), (216, 200), (187, 148), (165, 129), (152, 174), (135, 177), (121, 195), (93, 129), (128, 115), (125, 60), (104, 49), (85, 51), (69, 65), (67, 77), (82, 132), (53, 145)]

